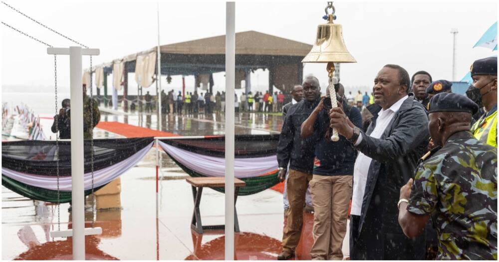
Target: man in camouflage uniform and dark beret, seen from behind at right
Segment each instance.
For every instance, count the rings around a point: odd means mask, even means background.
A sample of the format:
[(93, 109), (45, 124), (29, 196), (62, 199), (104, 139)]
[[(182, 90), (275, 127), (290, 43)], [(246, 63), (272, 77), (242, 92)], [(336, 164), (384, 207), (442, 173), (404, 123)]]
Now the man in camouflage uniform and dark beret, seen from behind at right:
[(497, 260), (497, 149), (470, 130), (478, 105), (440, 93), (430, 100), (428, 128), (437, 148), (400, 190), (399, 224), (407, 237), (423, 231), (430, 214), (438, 260)]

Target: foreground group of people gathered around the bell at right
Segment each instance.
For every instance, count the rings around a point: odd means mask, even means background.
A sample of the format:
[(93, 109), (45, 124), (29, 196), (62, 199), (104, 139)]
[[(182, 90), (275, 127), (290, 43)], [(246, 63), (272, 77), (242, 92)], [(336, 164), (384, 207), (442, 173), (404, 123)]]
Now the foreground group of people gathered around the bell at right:
[(277, 259), (294, 258), (311, 205), (312, 260), (343, 259), (348, 217), (351, 260), (497, 260), (497, 57), (475, 61), (471, 76), (465, 96), (387, 64), (371, 95), (336, 84), (334, 108), (317, 78), (294, 86), (277, 148)]

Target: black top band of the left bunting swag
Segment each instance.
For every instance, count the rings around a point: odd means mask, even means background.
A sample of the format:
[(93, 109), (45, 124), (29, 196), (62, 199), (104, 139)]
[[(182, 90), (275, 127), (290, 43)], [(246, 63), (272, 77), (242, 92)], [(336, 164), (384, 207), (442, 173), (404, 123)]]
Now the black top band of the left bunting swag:
[[(154, 141), (153, 137), (94, 139), (94, 171), (121, 162)], [(90, 140), (84, 141), (85, 173), (91, 172)], [(56, 176), (55, 141), (3, 142), (2, 168), (43, 176)], [(59, 141), (59, 176), (71, 176), (71, 141)]]

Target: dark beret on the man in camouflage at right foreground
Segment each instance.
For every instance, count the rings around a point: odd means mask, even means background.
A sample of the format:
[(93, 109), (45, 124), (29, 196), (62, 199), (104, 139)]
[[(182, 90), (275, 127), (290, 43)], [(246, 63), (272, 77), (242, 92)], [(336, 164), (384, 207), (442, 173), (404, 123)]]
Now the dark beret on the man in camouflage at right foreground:
[(456, 93), (439, 93), (430, 99), (428, 112), (467, 112), (472, 115), (479, 110), (470, 98)]

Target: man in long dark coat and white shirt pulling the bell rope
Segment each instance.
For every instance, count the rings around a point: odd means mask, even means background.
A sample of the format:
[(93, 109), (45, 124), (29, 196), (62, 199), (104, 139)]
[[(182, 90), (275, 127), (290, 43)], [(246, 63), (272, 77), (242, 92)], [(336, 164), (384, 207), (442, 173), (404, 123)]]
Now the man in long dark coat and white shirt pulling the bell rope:
[(350, 220), (352, 260), (422, 260), (424, 234), (409, 239), (398, 225), (399, 189), (414, 178), (428, 145), (424, 106), (408, 96), (410, 78), (398, 65), (385, 65), (374, 80), (374, 101), (381, 106), (367, 132), (341, 108), (330, 112), (331, 127), (360, 151), (354, 167)]

